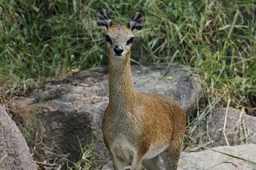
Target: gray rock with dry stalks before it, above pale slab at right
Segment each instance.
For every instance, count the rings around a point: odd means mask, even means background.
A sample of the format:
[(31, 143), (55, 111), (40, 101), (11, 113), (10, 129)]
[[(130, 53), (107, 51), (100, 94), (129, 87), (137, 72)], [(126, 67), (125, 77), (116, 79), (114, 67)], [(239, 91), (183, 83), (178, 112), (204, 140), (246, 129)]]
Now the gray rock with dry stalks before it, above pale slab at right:
[[(227, 145), (223, 133), (223, 125), (225, 122), (226, 107), (213, 109), (204, 120), (200, 129), (194, 133), (195, 140), (199, 143), (214, 141), (214, 146)], [(207, 123), (208, 122), (208, 123)], [(256, 117), (246, 115), (229, 107), (226, 115), (225, 135), (230, 145), (239, 144), (256, 144)], [(208, 127), (208, 133), (207, 133)]]

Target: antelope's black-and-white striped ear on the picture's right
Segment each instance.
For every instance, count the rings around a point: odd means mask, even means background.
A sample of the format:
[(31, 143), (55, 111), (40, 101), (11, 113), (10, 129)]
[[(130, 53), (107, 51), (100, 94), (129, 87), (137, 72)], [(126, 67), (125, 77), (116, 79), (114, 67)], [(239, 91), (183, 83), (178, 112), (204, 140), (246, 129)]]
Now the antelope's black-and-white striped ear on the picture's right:
[(144, 13), (143, 11), (137, 11), (131, 16), (130, 22), (128, 24), (128, 28), (133, 32), (133, 34), (142, 29), (144, 21)]

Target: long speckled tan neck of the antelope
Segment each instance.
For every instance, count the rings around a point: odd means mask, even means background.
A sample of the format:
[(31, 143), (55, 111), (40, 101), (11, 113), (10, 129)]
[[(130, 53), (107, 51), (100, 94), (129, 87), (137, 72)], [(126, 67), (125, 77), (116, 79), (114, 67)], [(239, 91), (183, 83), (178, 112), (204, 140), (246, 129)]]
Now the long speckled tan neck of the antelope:
[(109, 61), (109, 103), (114, 108), (118, 106), (133, 108), (136, 93), (131, 78), (130, 59), (128, 61)]

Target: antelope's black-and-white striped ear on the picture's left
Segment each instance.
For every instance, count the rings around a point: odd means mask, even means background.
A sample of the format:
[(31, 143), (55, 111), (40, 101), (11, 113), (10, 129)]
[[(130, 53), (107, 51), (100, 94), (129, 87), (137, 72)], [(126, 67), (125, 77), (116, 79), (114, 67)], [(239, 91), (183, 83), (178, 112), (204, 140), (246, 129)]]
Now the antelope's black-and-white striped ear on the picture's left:
[(98, 8), (97, 10), (97, 24), (103, 29), (108, 30), (112, 26), (112, 21), (107, 10)]

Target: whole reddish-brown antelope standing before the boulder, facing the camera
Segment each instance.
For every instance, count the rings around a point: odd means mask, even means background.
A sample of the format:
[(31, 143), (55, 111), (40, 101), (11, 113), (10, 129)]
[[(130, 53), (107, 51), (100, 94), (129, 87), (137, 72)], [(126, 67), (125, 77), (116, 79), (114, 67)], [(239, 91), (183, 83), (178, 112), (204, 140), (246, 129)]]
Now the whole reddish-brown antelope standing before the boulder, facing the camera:
[[(143, 26), (144, 13), (137, 11), (128, 27), (113, 25), (108, 12), (99, 8), (97, 23), (106, 31), (109, 59), (109, 104), (102, 121), (104, 143), (115, 170), (177, 169), (186, 119), (169, 96), (138, 93), (133, 88), (130, 50), (134, 32)], [(165, 167), (165, 168), (164, 168)]]

